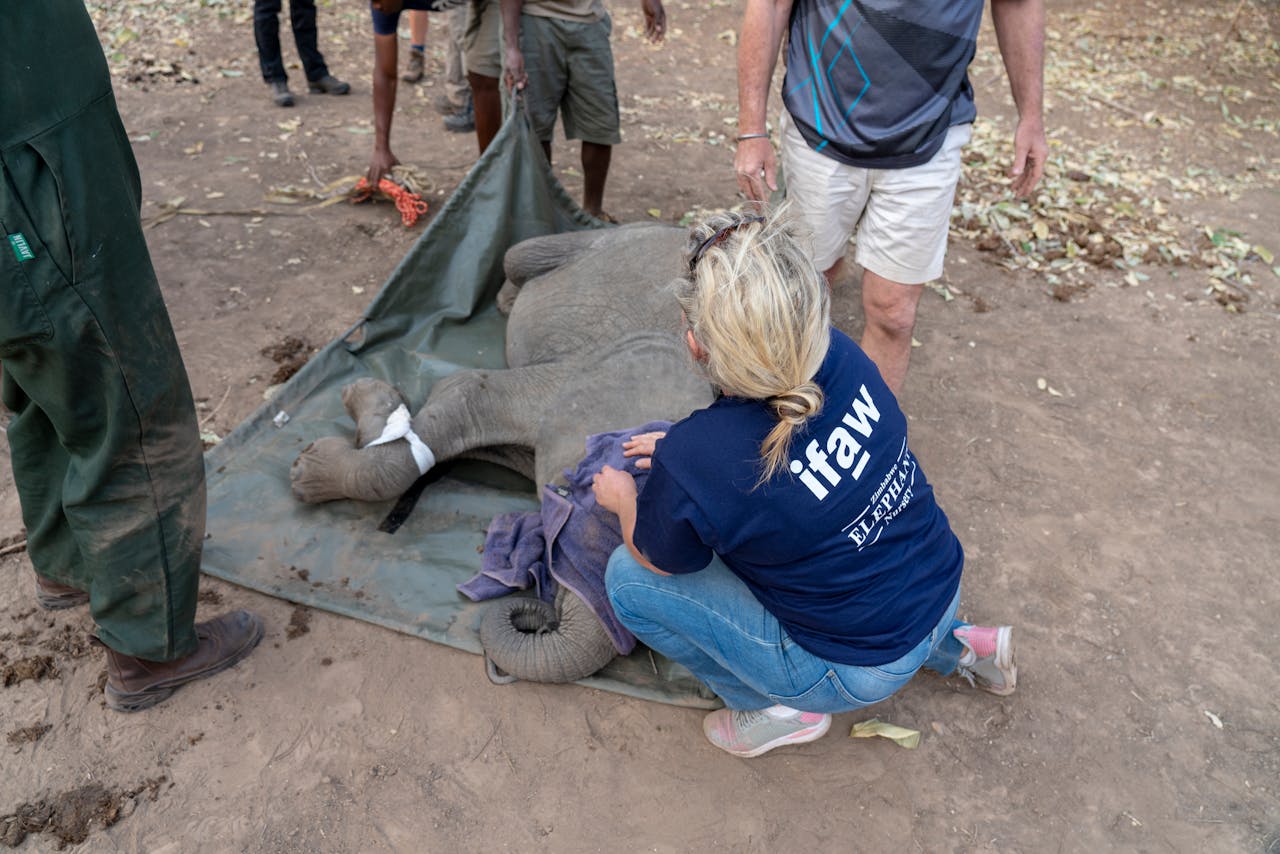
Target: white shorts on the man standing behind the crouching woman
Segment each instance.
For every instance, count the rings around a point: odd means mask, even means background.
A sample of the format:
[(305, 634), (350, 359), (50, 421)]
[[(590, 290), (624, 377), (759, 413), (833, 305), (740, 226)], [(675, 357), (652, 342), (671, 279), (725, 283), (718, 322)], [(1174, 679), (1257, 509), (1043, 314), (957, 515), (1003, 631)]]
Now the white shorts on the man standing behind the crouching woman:
[(942, 275), (960, 179), (960, 150), (972, 125), (947, 131), (933, 159), (908, 169), (863, 169), (818, 154), (782, 111), (787, 200), (813, 232), (814, 262), (828, 270), (856, 238), (858, 264), (900, 284)]

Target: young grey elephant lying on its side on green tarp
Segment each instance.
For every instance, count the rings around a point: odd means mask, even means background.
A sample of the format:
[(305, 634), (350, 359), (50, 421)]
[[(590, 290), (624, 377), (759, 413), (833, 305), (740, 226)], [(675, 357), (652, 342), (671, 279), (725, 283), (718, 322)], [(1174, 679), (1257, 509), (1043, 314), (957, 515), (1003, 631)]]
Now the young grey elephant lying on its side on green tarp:
[[(387, 383), (348, 385), (342, 398), (355, 442), (328, 437), (305, 448), (291, 471), (294, 495), (388, 501), (454, 457), (563, 484), (588, 435), (675, 421), (707, 406), (712, 388), (690, 370), (668, 287), (684, 273), (685, 239), (678, 228), (627, 225), (511, 247), (498, 293), (508, 367), (438, 382), (412, 419)], [(481, 643), (498, 667), (535, 681), (582, 679), (617, 652), (566, 588), (554, 606), (527, 597), (490, 606)]]

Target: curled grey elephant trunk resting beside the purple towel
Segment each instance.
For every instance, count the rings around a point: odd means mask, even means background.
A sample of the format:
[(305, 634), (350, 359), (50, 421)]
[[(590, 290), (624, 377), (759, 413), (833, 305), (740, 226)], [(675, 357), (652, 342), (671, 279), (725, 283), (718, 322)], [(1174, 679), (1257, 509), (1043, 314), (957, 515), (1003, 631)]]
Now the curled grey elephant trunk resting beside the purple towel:
[(493, 665), (531, 682), (572, 682), (617, 654), (599, 617), (563, 586), (554, 606), (531, 597), (494, 602), (480, 622), (480, 644)]

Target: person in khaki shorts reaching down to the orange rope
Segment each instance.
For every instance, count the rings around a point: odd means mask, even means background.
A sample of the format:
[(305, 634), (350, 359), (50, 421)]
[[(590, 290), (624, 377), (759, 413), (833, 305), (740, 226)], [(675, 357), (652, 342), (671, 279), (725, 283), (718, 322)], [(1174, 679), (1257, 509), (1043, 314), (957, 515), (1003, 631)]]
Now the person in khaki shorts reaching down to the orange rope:
[[(476, 143), (485, 152), (502, 127), (502, 51), (498, 27), (502, 17), (499, 0), (470, 0), (463, 36), (463, 64), (474, 102)], [(374, 152), (369, 159), (367, 181), (371, 187), (399, 163), (392, 154), (392, 115), (396, 113), (396, 77), (399, 47), (396, 28), (401, 12), (442, 12), (457, 5), (454, 0), (370, 0), (374, 18)]]

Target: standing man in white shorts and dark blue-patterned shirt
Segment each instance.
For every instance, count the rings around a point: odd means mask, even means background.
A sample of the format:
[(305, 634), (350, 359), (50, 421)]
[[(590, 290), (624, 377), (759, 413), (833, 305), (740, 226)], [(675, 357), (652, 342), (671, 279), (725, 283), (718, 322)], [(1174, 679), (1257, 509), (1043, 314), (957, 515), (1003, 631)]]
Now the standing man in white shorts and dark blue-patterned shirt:
[[(777, 189), (767, 101), (788, 33), (780, 127), (787, 196), (833, 283), (858, 237), (861, 348), (895, 394), (911, 356), (920, 286), (942, 274), (961, 149), (977, 114), (968, 68), (983, 0), (746, 0), (737, 52), (733, 168), (749, 198)], [(1044, 172), (1044, 3), (991, 0), (1018, 106), (1012, 189)]]

